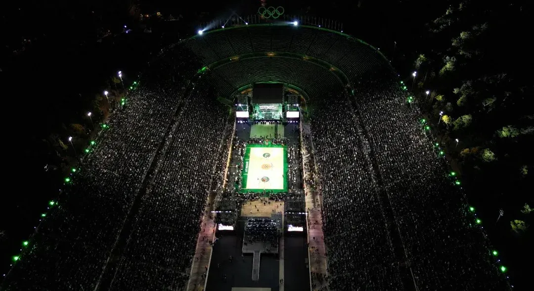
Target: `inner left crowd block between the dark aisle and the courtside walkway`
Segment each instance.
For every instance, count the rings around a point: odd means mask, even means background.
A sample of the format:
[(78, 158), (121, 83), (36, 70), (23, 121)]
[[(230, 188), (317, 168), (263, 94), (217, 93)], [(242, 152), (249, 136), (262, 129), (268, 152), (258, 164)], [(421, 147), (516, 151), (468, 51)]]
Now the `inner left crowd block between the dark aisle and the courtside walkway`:
[(180, 289), (187, 284), (202, 212), (215, 190), (214, 172), (227, 157), (221, 137), (229, 128), (229, 111), (206, 98), (206, 88), (195, 86), (176, 118), (112, 290)]

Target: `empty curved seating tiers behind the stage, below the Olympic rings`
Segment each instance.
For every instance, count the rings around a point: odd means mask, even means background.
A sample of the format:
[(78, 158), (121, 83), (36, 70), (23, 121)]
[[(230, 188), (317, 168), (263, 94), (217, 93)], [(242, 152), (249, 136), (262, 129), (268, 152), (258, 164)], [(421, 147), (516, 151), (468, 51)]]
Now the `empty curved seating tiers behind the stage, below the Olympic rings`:
[(348, 34), (310, 25), (255, 24), (208, 30), (182, 43), (209, 68), (219, 95), (281, 82), (305, 95), (342, 88), (389, 61)]

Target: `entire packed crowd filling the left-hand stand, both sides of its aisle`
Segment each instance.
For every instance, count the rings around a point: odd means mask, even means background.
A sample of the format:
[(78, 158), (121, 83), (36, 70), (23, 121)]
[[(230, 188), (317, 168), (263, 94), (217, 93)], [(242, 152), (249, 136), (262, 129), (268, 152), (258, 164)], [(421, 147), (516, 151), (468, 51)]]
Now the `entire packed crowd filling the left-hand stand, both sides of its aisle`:
[[(192, 78), (200, 67), (195, 58), (174, 58), (172, 62), (151, 64), (171, 80), (148, 74), (153, 79), (143, 79), (144, 85), (126, 96), (125, 105), (114, 112), (96, 145), (61, 189), (57, 204), (43, 217), (2, 287), (94, 289), (148, 180), (152, 180), (147, 190), (150, 194), (144, 198), (113, 286), (134, 286), (138, 278), (143, 278), (144, 284), (168, 286), (170, 279), (160, 281), (166, 272), (135, 269), (155, 260), (173, 266), (170, 272), (180, 273), (171, 276), (169, 286), (185, 280), (182, 273), (192, 255), (206, 200), (206, 181), (224, 156), (219, 144), (229, 111), (206, 102), (212, 96), (202, 91), (202, 86), (190, 97), (188, 88), (194, 87), (189, 85), (195, 82)], [(202, 114), (197, 115), (199, 110)], [(158, 170), (149, 177), (162, 148), (165, 154)], [(188, 235), (182, 237), (183, 233)], [(175, 252), (171, 255), (171, 251)], [(132, 282), (125, 283), (129, 279)]]

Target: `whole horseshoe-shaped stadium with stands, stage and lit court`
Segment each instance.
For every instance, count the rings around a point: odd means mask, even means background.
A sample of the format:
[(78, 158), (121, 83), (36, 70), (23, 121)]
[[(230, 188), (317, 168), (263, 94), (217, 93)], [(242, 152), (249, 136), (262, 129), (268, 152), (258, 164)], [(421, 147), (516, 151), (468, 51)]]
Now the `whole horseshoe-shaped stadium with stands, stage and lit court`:
[(334, 21), (212, 22), (139, 83), (2, 290), (511, 289), (403, 82)]

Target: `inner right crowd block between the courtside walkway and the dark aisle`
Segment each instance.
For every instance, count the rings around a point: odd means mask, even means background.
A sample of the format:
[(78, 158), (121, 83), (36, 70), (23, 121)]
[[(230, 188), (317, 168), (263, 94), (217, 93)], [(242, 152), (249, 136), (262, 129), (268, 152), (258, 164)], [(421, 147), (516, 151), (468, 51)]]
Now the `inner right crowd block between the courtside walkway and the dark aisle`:
[[(379, 187), (347, 98), (312, 100), (311, 131), (323, 197), (331, 290), (401, 290)], [(332, 110), (336, 108), (336, 110)]]

